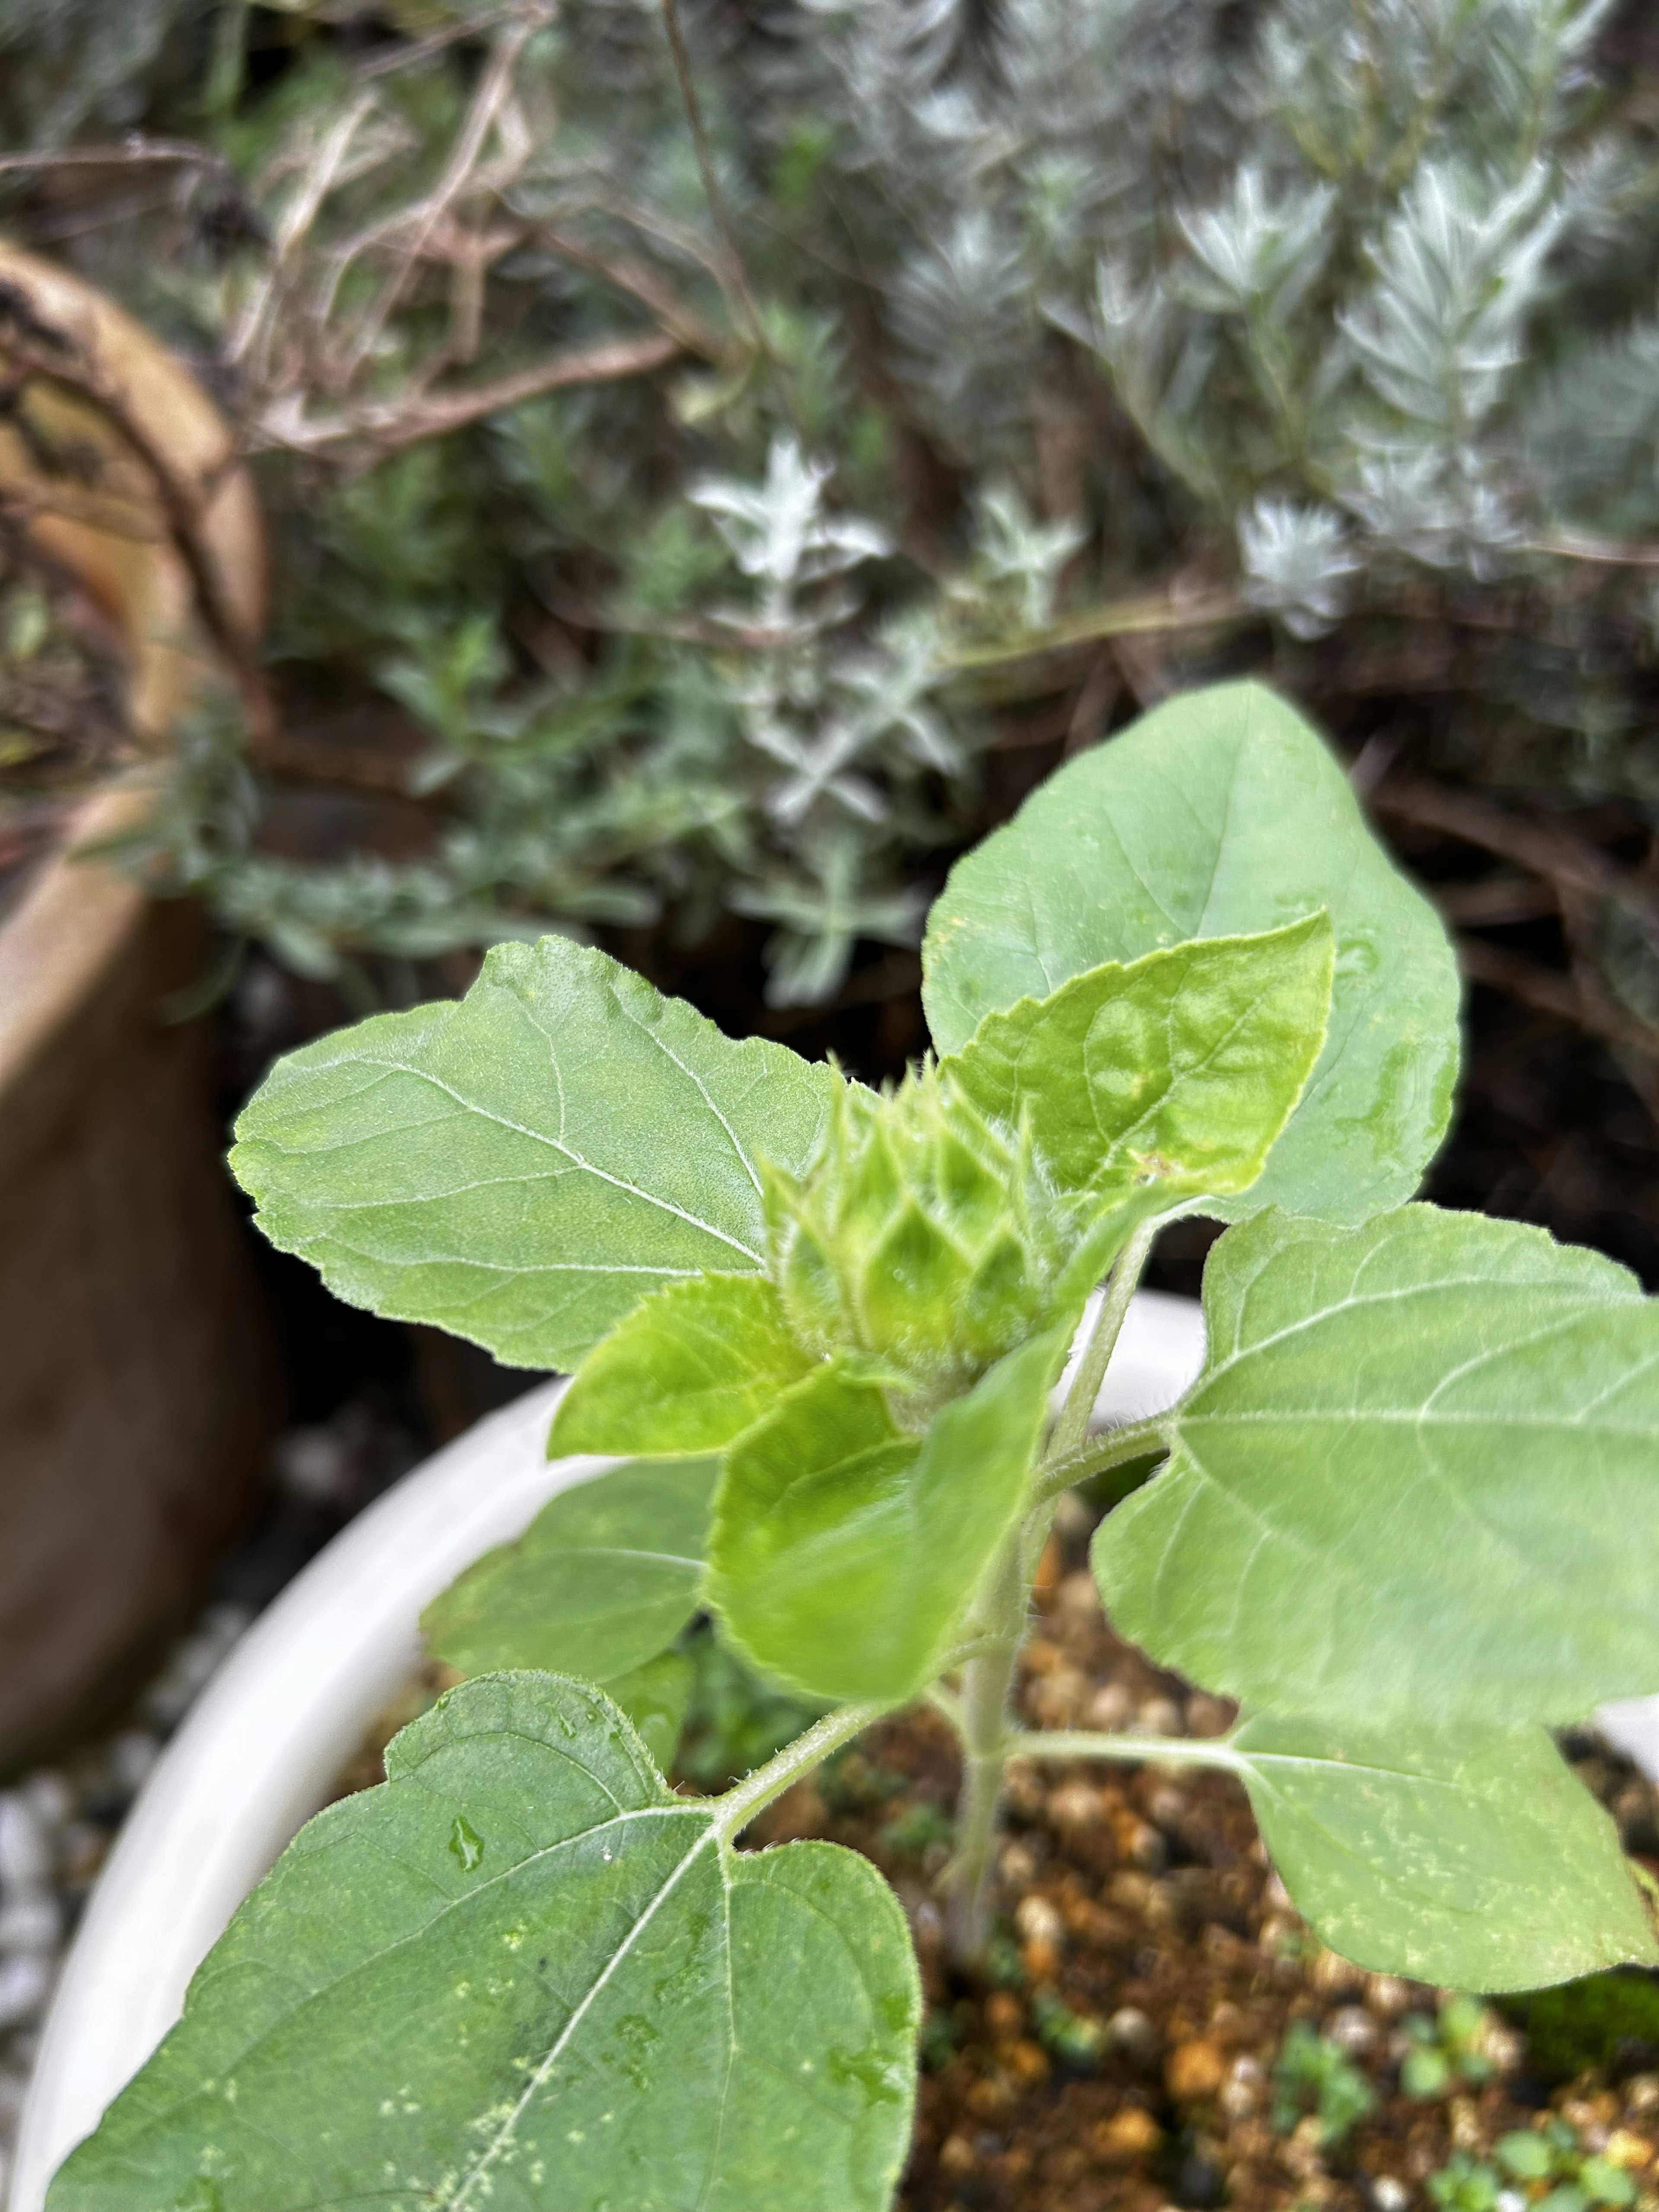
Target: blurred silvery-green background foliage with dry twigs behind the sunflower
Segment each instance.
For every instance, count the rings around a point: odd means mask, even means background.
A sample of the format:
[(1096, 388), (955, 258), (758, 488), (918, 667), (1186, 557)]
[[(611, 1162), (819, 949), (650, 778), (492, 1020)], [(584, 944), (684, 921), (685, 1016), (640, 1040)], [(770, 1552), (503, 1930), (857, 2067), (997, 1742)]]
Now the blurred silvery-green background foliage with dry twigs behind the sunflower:
[[(0, 133), (272, 522), (272, 723), (181, 732), (135, 852), (219, 980), (560, 927), (880, 1073), (951, 854), (1248, 668), (1533, 1024), (1447, 1194), (1573, 1214), (1575, 1117), (1652, 1172), (1641, 0), (0, 0)], [(22, 821), (108, 712), (4, 591)]]

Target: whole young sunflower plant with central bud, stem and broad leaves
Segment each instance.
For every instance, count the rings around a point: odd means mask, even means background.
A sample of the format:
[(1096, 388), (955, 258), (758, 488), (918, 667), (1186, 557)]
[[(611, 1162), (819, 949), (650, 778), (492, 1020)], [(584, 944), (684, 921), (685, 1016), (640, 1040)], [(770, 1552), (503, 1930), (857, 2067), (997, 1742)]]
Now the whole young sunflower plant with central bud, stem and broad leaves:
[[(951, 874), (925, 1002), (936, 1057), (876, 1093), (544, 938), (272, 1071), (232, 1155), (265, 1234), (571, 1371), (549, 1449), (595, 1458), (431, 1608), (467, 1679), (248, 1898), (53, 2212), (883, 2212), (905, 1913), (852, 1851), (739, 1845), (920, 1699), (962, 1743), (969, 1969), (1011, 1759), (1223, 1767), (1367, 1969), (1659, 1958), (1551, 1741), (1659, 1690), (1659, 1307), (1411, 1203), (1458, 980), (1321, 739), (1228, 686), (1079, 754)], [(1230, 1223), (1203, 1374), (1097, 1433), (1181, 1212)], [(1015, 1725), (1079, 1482), (1110, 1619), (1228, 1736)], [(688, 1796), (701, 1615), (796, 1734)]]

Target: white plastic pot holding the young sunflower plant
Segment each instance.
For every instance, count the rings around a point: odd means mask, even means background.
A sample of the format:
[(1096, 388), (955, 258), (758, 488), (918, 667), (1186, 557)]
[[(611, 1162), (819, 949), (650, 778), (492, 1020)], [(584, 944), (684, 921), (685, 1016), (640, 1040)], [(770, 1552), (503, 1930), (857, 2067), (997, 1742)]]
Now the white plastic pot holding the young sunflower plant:
[[(1203, 1360), (1190, 1298), (1141, 1292), (1099, 1411), (1172, 1405)], [(46, 2017), (11, 2212), (46, 2183), (179, 2017), (190, 1975), (420, 1663), (420, 1613), (491, 1544), (608, 1460), (542, 1455), (564, 1383), (518, 1398), (358, 1515), (248, 1630), (144, 1787)]]

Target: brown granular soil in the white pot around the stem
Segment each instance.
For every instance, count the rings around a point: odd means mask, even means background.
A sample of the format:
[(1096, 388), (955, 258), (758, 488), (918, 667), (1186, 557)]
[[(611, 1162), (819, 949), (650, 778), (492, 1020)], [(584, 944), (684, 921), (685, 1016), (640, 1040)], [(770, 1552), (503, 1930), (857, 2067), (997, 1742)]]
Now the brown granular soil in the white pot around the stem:
[[(1040, 1593), (1020, 1703), (1035, 1728), (1219, 1734), (1232, 1710), (1150, 1668), (1102, 1619), (1079, 1555)], [(1655, 1843), (1655, 1794), (1588, 1739), (1586, 1778), (1626, 1838)], [(931, 1712), (887, 1723), (796, 1785), (750, 1843), (827, 1836), (902, 1898), (927, 1989), (916, 2150), (900, 2212), (1159, 2212), (1287, 2205), (1402, 2212), (1449, 2197), (1513, 2130), (1566, 2119), (1659, 2205), (1659, 2070), (1537, 2077), (1522, 2031), (1486, 2011), (1469, 2053), (1484, 2084), (1409, 2097), (1398, 2073), (1442, 1993), (1325, 1951), (1270, 1871), (1243, 1787), (1192, 1767), (1024, 1763), (1009, 1790), (991, 1973), (951, 1971), (938, 1878), (956, 1752)], [(1409, 2024), (1411, 2022), (1411, 2024)], [(1374, 2110), (1327, 2141), (1279, 2088), (1294, 2024), (1363, 2077)], [(1659, 2059), (1626, 2048), (1626, 2062)], [(1279, 2106), (1279, 2110), (1276, 2110)], [(1610, 2150), (1608, 2150), (1610, 2146)], [(1429, 2190), (1431, 2177), (1444, 2177)], [(1504, 2212), (1522, 2212), (1526, 2190)], [(1464, 2183), (1469, 2188), (1469, 2183)], [(1531, 2194), (1542, 2194), (1542, 2183)]]

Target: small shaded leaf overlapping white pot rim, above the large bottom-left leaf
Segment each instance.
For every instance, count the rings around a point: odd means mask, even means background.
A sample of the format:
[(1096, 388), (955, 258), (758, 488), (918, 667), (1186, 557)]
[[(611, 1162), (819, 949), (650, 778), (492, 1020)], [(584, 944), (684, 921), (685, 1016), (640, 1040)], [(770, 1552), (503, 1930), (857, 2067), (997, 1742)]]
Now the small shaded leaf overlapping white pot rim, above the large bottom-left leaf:
[(719, 1460), (635, 1460), (560, 1491), (420, 1617), (462, 1674), (546, 1668), (615, 1683), (697, 1613)]

